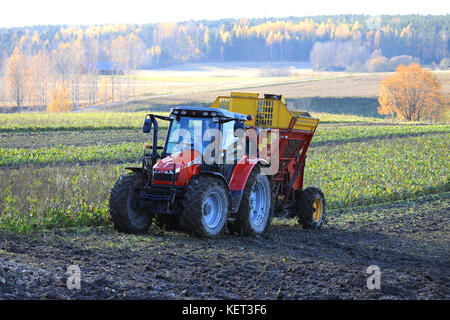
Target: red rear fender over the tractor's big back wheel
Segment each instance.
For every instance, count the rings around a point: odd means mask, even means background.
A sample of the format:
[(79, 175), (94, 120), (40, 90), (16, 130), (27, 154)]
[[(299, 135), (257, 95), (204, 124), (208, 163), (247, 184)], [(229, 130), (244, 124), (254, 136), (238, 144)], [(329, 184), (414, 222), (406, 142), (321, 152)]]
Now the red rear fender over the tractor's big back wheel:
[(268, 166), (269, 163), (262, 158), (249, 158), (248, 156), (243, 156), (234, 168), (233, 174), (230, 179), (230, 192), (233, 213), (237, 212), (239, 209), (248, 177), (250, 176), (250, 173), (256, 165)]

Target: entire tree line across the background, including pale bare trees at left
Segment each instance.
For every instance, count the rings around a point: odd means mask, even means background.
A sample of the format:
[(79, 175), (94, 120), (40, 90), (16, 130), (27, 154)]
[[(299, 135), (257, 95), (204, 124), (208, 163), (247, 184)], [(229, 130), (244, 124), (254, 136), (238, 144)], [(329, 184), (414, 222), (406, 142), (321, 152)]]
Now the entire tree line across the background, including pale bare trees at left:
[[(184, 62), (311, 61), (315, 69), (362, 71), (395, 69), (396, 61), (446, 65), (449, 21), (336, 15), (0, 29), (0, 104), (14, 97), (18, 110), (46, 106), (59, 87), (77, 109), (80, 81), (91, 105), (124, 100), (133, 96), (136, 69)], [(111, 75), (102, 88), (99, 74)]]

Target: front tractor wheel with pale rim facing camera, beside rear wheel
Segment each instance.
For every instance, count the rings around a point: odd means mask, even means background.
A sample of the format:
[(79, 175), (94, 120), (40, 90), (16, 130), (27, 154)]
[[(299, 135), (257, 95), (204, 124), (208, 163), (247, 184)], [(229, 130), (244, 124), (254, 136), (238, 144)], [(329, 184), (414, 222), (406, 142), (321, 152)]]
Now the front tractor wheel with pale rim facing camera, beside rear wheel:
[(222, 181), (209, 176), (194, 177), (186, 188), (180, 224), (192, 235), (217, 237), (227, 222), (229, 204)]

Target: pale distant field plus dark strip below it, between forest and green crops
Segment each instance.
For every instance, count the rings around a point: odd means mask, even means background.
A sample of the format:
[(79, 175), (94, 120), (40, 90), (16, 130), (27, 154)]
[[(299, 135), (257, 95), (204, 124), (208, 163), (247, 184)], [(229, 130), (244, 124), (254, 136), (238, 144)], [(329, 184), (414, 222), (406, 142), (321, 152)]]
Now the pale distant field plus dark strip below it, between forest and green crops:
[[(284, 76), (270, 76), (285, 70)], [(382, 78), (392, 73), (313, 72), (302, 64), (188, 64), (138, 73), (138, 98), (99, 110), (167, 111), (176, 105), (209, 105), (231, 91), (282, 94), (303, 110), (379, 116), (378, 91)], [(435, 71), (444, 92), (450, 92), (450, 72)], [(269, 76), (268, 76), (269, 75)], [(147, 91), (146, 91), (147, 90)], [(309, 103), (299, 103), (305, 97)]]

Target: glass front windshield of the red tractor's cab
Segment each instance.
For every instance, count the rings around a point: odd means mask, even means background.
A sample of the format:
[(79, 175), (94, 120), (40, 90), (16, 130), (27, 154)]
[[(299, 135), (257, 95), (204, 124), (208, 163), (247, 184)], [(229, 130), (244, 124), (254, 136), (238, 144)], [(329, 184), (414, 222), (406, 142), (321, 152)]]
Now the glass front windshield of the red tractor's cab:
[(209, 129), (219, 129), (212, 118), (179, 117), (172, 120), (167, 136), (166, 153), (168, 155), (186, 149), (195, 149), (203, 153), (210, 141), (203, 141), (204, 133)]

